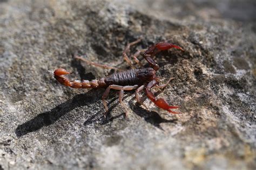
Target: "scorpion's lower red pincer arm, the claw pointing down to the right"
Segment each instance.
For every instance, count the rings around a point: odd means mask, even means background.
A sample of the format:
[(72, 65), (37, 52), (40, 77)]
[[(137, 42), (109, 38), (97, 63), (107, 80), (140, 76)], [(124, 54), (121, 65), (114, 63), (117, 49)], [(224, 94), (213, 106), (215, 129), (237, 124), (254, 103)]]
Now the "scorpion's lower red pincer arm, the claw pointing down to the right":
[(149, 99), (157, 105), (157, 107), (161, 108), (161, 109), (164, 109), (164, 110), (167, 110), (169, 111), (170, 113), (172, 114), (179, 114), (179, 112), (176, 112), (176, 111), (172, 111), (172, 109), (177, 109), (179, 108), (178, 106), (172, 106), (172, 105), (169, 105), (165, 100), (164, 98), (158, 98), (156, 99), (156, 97), (153, 95), (153, 93), (151, 92), (151, 88), (156, 86), (158, 82), (156, 80), (152, 80), (151, 82), (149, 82), (149, 84), (147, 84), (147, 87), (146, 87), (146, 95), (147, 97), (149, 97)]

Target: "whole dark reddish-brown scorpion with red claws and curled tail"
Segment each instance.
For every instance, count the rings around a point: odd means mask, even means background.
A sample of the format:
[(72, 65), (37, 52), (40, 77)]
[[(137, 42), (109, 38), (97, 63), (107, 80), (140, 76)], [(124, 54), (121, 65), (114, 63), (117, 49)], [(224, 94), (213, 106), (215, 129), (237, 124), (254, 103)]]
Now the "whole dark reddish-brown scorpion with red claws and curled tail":
[[(135, 62), (137, 62), (140, 66), (143, 66), (142, 63), (138, 60), (138, 56), (142, 54), (143, 58), (149, 62), (150, 67), (147, 68), (135, 68), (133, 66), (133, 62), (128, 57), (127, 52), (130, 51), (130, 47), (134, 44), (137, 44), (140, 42), (140, 39), (133, 41), (125, 47), (123, 51), (123, 58), (124, 60), (131, 66), (132, 69), (124, 70), (122, 72), (117, 72), (112, 75), (109, 75), (107, 77), (98, 79), (98, 80), (73, 80), (70, 81), (68, 77), (65, 75), (71, 74), (72, 72), (68, 72), (67, 70), (63, 68), (56, 69), (53, 74), (55, 79), (63, 84), (64, 86), (68, 86), (71, 88), (106, 88), (105, 92), (102, 96), (103, 105), (105, 108), (104, 116), (106, 116), (106, 113), (108, 111), (107, 104), (106, 104), (106, 97), (110, 93), (110, 89), (114, 90), (120, 90), (119, 91), (119, 102), (122, 104), (123, 108), (125, 109), (125, 115), (127, 115), (127, 107), (123, 102), (124, 98), (124, 91), (125, 90), (136, 90), (135, 96), (136, 100), (139, 104), (143, 104), (140, 100), (139, 93), (140, 91), (145, 89), (146, 96), (155, 104), (157, 107), (169, 111), (171, 114), (179, 114), (180, 112), (173, 111), (172, 109), (179, 108), (178, 106), (172, 106), (169, 105), (164, 98), (156, 98), (154, 94), (151, 91), (151, 88), (157, 87), (157, 88), (165, 88), (167, 84), (174, 78), (170, 78), (169, 81), (167, 81), (166, 84), (159, 85), (159, 78), (156, 76), (156, 71), (159, 69), (159, 65), (152, 59), (153, 56), (155, 56), (160, 51), (165, 51), (170, 48), (177, 48), (181, 51), (184, 51), (183, 48), (173, 45), (169, 42), (158, 42), (157, 44), (154, 44), (147, 48), (146, 50), (138, 50), (132, 58)], [(109, 69), (118, 69), (116, 67), (110, 67), (106, 65), (101, 65), (99, 63), (95, 63), (89, 60), (86, 60), (80, 56), (76, 56), (77, 59), (84, 60), (87, 63), (103, 67), (103, 68), (109, 68)], [(147, 108), (144, 105), (145, 108)]]

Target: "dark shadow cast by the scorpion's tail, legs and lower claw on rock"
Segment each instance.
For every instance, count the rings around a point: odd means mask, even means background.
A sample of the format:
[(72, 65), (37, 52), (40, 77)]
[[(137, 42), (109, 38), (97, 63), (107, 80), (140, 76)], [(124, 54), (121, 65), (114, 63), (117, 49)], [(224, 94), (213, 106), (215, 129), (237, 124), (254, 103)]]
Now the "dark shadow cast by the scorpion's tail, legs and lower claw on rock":
[[(85, 104), (95, 103), (96, 101), (99, 100), (98, 97), (93, 97), (93, 96), (95, 96), (95, 90), (92, 89), (88, 91), (86, 94), (76, 95), (72, 99), (57, 105), (55, 108), (51, 109), (50, 111), (46, 111), (37, 115), (35, 118), (31, 119), (30, 121), (27, 121), (21, 125), (18, 125), (15, 130), (16, 136), (22, 137), (25, 134), (41, 129), (44, 126), (49, 126), (55, 123), (56, 121), (58, 121), (60, 117), (66, 115), (71, 110), (77, 107), (83, 106)], [(128, 96), (130, 95), (126, 95), (124, 99)], [(116, 100), (117, 98), (113, 97), (112, 100), (109, 102), (109, 104), (113, 103)], [(143, 109), (139, 104), (136, 104), (134, 106), (132, 104), (132, 100), (134, 100), (134, 98), (130, 100), (129, 105), (131, 106), (133, 112), (135, 112), (135, 114), (137, 114), (138, 116), (144, 118), (146, 122), (156, 126), (161, 130), (163, 129), (161, 128), (160, 123), (173, 123), (177, 121), (177, 119), (167, 120), (167, 119), (161, 118), (157, 114), (157, 112), (154, 112), (154, 111), (149, 112)], [(109, 111), (107, 112), (106, 118), (102, 114), (104, 110), (100, 109), (95, 115), (92, 115), (91, 117), (89, 117), (84, 122), (84, 125), (86, 126), (89, 124), (93, 124), (95, 122), (99, 122), (99, 125), (105, 125), (109, 122), (112, 122), (114, 119), (117, 119), (119, 117), (125, 117), (124, 112), (117, 116), (110, 115), (111, 110), (114, 107), (116, 107), (118, 104), (119, 102), (112, 104), (112, 106), (109, 108)]]

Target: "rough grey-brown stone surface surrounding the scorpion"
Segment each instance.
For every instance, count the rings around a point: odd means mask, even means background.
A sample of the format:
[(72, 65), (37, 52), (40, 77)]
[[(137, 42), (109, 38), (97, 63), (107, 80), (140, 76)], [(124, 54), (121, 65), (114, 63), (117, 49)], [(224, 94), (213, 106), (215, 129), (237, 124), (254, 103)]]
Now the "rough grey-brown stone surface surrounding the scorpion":
[[(255, 169), (255, 1), (0, 1), (0, 169)], [(167, 40), (185, 49), (157, 56), (175, 77), (158, 97), (180, 105), (151, 111), (126, 92), (61, 86), (113, 73), (76, 54), (128, 68), (122, 50)]]

